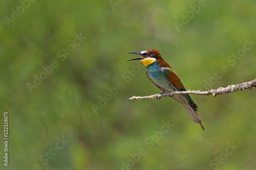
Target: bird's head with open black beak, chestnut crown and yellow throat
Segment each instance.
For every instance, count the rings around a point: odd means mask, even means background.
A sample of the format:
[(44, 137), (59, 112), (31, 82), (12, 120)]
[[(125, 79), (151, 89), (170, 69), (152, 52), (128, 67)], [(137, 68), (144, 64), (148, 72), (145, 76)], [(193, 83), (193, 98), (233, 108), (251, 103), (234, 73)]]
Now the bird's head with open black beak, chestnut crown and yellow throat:
[[(148, 65), (151, 65), (154, 62), (159, 62), (162, 59), (161, 55), (159, 54), (159, 50), (154, 50), (154, 49), (150, 49), (150, 50), (144, 50), (140, 53), (138, 52), (132, 52), (132, 53), (127, 53), (127, 54), (137, 54), (140, 55), (141, 57), (139, 58), (135, 58), (132, 60), (140, 60), (145, 67), (147, 67)], [(132, 61), (132, 60), (128, 60), (128, 61)]]

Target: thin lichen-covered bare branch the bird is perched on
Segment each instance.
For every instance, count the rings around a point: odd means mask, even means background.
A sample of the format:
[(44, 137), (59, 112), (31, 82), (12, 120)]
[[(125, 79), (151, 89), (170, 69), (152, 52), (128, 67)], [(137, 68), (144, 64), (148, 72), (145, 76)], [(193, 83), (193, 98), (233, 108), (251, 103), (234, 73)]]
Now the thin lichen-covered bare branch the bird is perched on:
[[(225, 93), (232, 93), (236, 92), (239, 90), (251, 90), (256, 87), (256, 79), (249, 81), (249, 82), (244, 82), (244, 83), (239, 83), (237, 85), (229, 85), (225, 88), (219, 87), (218, 89), (211, 89), (208, 91), (200, 91), (200, 90), (188, 90), (188, 91), (173, 91), (170, 93), (171, 96), (173, 95), (180, 95), (180, 94), (198, 94), (198, 95), (214, 95), (216, 97), (218, 94), (225, 94)], [(132, 96), (129, 98), (129, 100), (141, 100), (141, 99), (161, 99), (163, 97), (169, 96), (168, 94), (153, 94), (153, 95), (148, 95), (148, 96)]]

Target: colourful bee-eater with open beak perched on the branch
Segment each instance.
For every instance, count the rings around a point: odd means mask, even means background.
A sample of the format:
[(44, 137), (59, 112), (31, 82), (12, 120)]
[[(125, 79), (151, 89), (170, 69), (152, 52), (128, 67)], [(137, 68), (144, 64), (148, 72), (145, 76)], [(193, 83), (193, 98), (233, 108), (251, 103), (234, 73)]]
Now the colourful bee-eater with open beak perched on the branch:
[[(173, 91), (186, 91), (186, 89), (177, 73), (162, 59), (159, 50), (150, 49), (127, 54), (139, 55), (139, 58), (128, 61), (140, 60), (146, 67), (146, 77), (162, 90), (160, 94), (167, 93), (169, 96), (182, 103), (192, 120), (200, 124), (203, 131), (205, 130), (202, 121), (196, 112), (198, 111), (198, 107), (190, 96), (188, 94), (171, 95)], [(157, 95), (155, 95), (155, 98), (157, 98)]]

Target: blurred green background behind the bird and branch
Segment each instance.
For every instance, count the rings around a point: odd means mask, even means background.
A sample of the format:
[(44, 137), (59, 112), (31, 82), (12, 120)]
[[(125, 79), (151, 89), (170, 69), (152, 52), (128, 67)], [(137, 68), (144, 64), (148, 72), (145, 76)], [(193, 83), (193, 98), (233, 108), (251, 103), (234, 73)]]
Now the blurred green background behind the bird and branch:
[[(126, 53), (157, 49), (186, 89), (253, 80), (256, 44), (229, 56), (245, 39), (256, 41), (255, 1), (24, 2), (27, 8), (6, 0), (0, 7), (1, 141), (9, 113), (9, 164), (1, 142), (1, 169), (255, 169), (256, 90), (191, 94), (202, 131), (171, 98), (129, 101), (161, 91), (137, 61), (126, 62), (136, 57)], [(87, 38), (78, 45), (79, 35)], [(228, 71), (220, 74), (222, 66)], [(45, 80), (29, 90), (40, 74)], [(162, 122), (174, 126), (160, 133)], [(230, 154), (228, 143), (239, 148)]]

